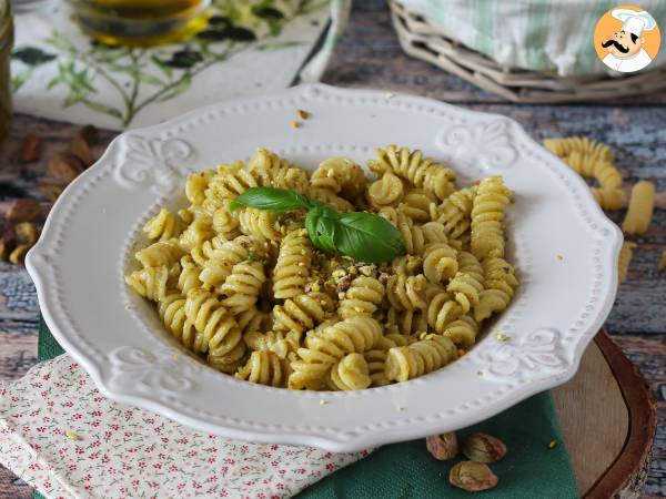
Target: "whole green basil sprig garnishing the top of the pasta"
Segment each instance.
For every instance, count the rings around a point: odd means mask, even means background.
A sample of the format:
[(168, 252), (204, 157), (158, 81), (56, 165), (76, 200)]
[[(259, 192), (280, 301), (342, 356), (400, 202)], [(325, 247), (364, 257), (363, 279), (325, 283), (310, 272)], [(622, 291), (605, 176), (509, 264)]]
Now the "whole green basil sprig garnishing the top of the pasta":
[(305, 230), (312, 245), (326, 253), (341, 253), (356, 262), (384, 263), (405, 253), (397, 228), (381, 216), (365, 212), (337, 213), (316, 200), (284, 189), (250, 187), (231, 203), (271, 212), (307, 210)]

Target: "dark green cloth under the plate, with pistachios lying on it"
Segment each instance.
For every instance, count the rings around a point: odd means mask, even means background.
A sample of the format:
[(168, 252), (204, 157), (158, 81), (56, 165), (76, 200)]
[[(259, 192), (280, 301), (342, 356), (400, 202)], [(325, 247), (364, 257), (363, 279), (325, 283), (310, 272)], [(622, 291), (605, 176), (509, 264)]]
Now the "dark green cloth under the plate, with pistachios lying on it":
[[(39, 325), (39, 360), (63, 354), (43, 320)], [(508, 448), (506, 457), (491, 468), (500, 478), (494, 489), (476, 492), (493, 499), (574, 499), (578, 497), (574, 471), (564, 447), (557, 414), (549, 391), (512, 407), (478, 425), (458, 431), (464, 437), (485, 431)], [(548, 448), (555, 440), (557, 446)], [(476, 497), (448, 485), (455, 461), (430, 456), (425, 440), (384, 446), (365, 459), (320, 480), (299, 499), (430, 499)], [(43, 499), (34, 492), (33, 499)]]

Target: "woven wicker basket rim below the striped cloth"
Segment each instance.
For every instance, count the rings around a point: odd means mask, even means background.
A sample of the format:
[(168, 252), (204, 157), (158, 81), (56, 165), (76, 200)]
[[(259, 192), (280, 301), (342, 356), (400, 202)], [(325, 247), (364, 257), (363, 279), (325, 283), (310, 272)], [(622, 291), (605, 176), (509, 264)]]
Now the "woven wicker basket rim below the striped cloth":
[(666, 90), (666, 67), (635, 75), (558, 77), (500, 65), (488, 57), (441, 34), (423, 16), (390, 0), (393, 26), (403, 50), (488, 92), (513, 102), (599, 101)]

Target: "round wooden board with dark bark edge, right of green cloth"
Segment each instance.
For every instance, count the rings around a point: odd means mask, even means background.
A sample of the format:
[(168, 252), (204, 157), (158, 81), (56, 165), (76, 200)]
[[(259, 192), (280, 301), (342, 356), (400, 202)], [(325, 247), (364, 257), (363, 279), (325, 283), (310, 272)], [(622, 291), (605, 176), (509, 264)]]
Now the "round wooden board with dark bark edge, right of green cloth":
[(576, 376), (553, 396), (583, 497), (639, 497), (657, 424), (656, 403), (605, 330), (585, 352)]

